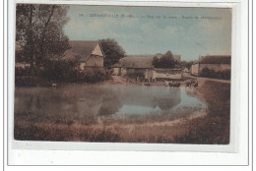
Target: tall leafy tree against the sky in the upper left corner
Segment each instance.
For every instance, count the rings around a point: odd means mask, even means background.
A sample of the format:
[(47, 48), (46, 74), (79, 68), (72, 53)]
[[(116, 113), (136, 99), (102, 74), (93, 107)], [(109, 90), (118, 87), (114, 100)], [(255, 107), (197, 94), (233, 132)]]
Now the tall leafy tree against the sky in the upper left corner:
[[(40, 67), (45, 60), (61, 57), (70, 48), (63, 27), (68, 22), (68, 6), (18, 4), (16, 8), (16, 45), (21, 54)], [(17, 56), (17, 57), (19, 57)]]

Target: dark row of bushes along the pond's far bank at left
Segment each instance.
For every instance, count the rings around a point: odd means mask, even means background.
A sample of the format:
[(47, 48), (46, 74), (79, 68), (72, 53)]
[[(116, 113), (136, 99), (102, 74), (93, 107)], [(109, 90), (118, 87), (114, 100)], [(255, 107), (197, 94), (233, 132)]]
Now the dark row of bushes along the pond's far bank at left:
[(16, 68), (15, 85), (35, 86), (54, 83), (96, 83), (109, 79), (109, 73), (104, 69), (79, 71), (77, 60), (48, 60), (43, 67)]

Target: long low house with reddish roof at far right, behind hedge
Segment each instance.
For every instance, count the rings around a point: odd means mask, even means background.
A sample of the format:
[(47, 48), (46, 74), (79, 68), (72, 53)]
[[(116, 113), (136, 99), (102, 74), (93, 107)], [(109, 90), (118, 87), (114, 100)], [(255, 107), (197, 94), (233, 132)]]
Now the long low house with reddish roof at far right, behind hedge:
[(209, 70), (226, 71), (231, 69), (230, 55), (208, 55), (201, 57), (197, 62), (193, 63), (190, 68), (191, 75), (200, 76), (204, 68)]

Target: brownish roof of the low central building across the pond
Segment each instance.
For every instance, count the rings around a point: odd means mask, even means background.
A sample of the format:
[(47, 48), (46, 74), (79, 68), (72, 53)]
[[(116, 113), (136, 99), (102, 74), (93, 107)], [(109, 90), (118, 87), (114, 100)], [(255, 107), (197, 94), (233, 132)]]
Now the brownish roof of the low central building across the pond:
[(120, 59), (119, 64), (124, 68), (154, 68), (152, 65), (155, 55), (129, 55)]

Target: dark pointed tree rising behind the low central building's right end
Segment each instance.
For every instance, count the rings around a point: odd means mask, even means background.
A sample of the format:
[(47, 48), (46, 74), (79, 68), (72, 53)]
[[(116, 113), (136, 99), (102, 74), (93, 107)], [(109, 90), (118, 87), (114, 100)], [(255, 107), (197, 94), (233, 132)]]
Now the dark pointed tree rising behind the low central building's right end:
[(156, 68), (175, 68), (176, 61), (171, 51), (167, 51), (162, 57), (154, 57), (153, 63)]

